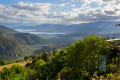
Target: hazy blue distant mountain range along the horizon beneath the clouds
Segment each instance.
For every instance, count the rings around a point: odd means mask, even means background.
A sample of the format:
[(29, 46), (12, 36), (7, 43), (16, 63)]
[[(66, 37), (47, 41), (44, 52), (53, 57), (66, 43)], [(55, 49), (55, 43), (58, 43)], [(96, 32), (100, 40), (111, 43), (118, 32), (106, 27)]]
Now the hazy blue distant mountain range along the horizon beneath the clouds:
[(73, 24), (69, 26), (60, 24), (41, 24), (37, 26), (14, 27), (16, 30), (26, 32), (61, 32), (61, 33), (120, 33), (120, 27), (115, 26), (119, 22), (94, 22)]

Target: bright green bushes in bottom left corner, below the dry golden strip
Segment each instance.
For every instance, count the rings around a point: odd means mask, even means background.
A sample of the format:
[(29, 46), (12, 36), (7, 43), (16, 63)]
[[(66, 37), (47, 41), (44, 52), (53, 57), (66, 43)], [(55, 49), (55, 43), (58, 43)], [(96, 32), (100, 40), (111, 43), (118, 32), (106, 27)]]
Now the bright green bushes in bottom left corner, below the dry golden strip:
[(33, 70), (14, 64), (11, 69), (4, 68), (0, 72), (2, 80), (25, 80), (33, 75)]

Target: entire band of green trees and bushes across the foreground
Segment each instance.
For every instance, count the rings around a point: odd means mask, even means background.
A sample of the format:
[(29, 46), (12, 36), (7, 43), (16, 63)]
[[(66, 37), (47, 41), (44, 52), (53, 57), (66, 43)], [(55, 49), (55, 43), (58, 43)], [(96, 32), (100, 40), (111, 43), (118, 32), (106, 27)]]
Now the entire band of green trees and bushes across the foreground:
[[(44, 50), (40, 54), (24, 57), (26, 67), (13, 65), (0, 71), (1, 80), (117, 80), (119, 68), (110, 58), (112, 45), (99, 36), (86, 36), (58, 50), (56, 53)], [(14, 75), (13, 75), (14, 74)], [(114, 77), (113, 77), (114, 76)], [(115, 78), (116, 77), (116, 78)]]

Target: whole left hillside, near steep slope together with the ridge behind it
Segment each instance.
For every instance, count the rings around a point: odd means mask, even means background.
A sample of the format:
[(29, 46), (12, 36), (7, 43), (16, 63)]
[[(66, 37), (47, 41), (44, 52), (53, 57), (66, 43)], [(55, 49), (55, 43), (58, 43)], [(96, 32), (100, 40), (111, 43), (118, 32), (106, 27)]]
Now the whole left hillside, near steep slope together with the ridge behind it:
[[(42, 41), (38, 36), (0, 26), (0, 60), (14, 60), (22, 57), (23, 45), (40, 44)], [(13, 58), (13, 59), (12, 59)]]

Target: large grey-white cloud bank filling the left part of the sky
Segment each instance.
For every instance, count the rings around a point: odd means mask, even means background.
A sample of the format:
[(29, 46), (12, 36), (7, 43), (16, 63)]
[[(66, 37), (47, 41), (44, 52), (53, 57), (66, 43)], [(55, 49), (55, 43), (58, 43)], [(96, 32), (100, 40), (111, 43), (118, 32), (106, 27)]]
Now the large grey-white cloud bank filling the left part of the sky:
[[(18, 4), (11, 6), (4, 6), (0, 4), (0, 22), (19, 22), (19, 23), (31, 23), (31, 22), (42, 22), (45, 16), (48, 14), (52, 4), (50, 3), (24, 3), (19, 2)], [(36, 22), (36, 23), (37, 23)]]

